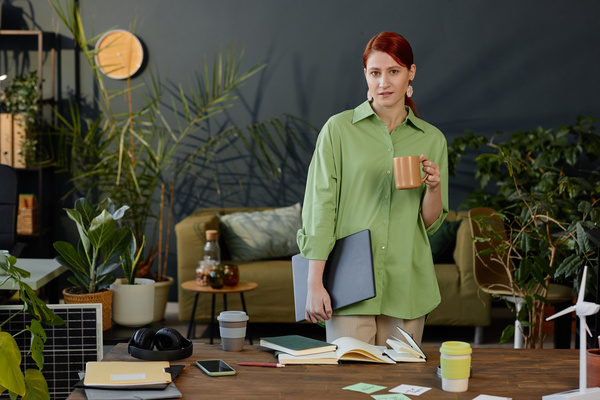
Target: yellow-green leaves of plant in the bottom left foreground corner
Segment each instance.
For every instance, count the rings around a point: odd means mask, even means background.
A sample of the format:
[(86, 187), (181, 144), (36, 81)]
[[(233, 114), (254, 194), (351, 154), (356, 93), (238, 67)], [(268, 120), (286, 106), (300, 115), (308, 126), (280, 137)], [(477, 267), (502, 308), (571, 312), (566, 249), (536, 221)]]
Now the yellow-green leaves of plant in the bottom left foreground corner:
[[(8, 321), (0, 321), (0, 393), (8, 391), (10, 398), (21, 396), (27, 399), (50, 399), (48, 384), (42, 374), (44, 365), (44, 343), (46, 333), (42, 324), (62, 325), (64, 321), (56, 315), (43, 300), (41, 300), (31, 287), (22, 281), (30, 276), (29, 272), (16, 266), (17, 259), (6, 256), (0, 252), (0, 284), (8, 279), (17, 282), (19, 286), (19, 297), (23, 302), (20, 312), (28, 312), (33, 317), (31, 325), (14, 336), (31, 335), (30, 354), (38, 369), (29, 368), (23, 373), (21, 370), (21, 351), (13, 335), (3, 332), (2, 326)], [(17, 315), (17, 314), (13, 314)], [(12, 317), (11, 317), (12, 318)]]

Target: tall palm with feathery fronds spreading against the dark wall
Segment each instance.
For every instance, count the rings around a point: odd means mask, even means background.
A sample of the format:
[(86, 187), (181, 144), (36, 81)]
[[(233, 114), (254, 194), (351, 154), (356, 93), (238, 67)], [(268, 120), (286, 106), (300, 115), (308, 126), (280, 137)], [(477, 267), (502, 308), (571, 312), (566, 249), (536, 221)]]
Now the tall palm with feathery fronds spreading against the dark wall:
[[(216, 190), (221, 190), (218, 171), (211, 161), (224, 148), (239, 152), (240, 146), (256, 159), (265, 174), (277, 175), (281, 172), (279, 164), (283, 163), (284, 168), (286, 164), (286, 151), (281, 147), (288, 148), (288, 140), (296, 140), (289, 122), (298, 120), (285, 115), (243, 129), (231, 125), (210, 133), (209, 121), (232, 107), (236, 91), (266, 66), (259, 63), (242, 71), (244, 50), (239, 51), (236, 46), (217, 52), (212, 64), (205, 59), (203, 76), (198, 75), (188, 88), (182, 84), (173, 88), (176, 96), (169, 105), (160, 76), (151, 74), (144, 103), (134, 110), (134, 95), (145, 86), (132, 87), (128, 79), (123, 90), (107, 90), (105, 75), (94, 62), (97, 50), (93, 44), (101, 35), (86, 37), (72, 1), (66, 0), (65, 7), (59, 0), (51, 0), (51, 4), (81, 48), (98, 87), (95, 118), (85, 119), (78, 104), (70, 105), (69, 115), (58, 114), (62, 126), (57, 131), (57, 164), (71, 175), (74, 191), (93, 188), (96, 195), (109, 196), (121, 204), (135, 204), (126, 221), (138, 243), (142, 243), (148, 229), (152, 230), (145, 259), (152, 260), (158, 254), (157, 278), (161, 280), (168, 256), (173, 194), (179, 179), (185, 174), (209, 173)], [(116, 112), (113, 103), (124, 96), (129, 111)], [(175, 122), (170, 122), (172, 119)], [(163, 238), (167, 203), (167, 237)], [(163, 242), (167, 243), (165, 260), (161, 259)]]

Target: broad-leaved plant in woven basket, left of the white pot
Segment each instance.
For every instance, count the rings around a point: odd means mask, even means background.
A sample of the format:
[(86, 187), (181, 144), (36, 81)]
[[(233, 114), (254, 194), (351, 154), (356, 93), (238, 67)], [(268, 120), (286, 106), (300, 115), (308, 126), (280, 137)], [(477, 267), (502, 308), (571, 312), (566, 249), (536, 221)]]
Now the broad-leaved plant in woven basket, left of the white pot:
[(101, 303), (104, 330), (112, 325), (113, 272), (123, 263), (133, 238), (129, 227), (117, 226), (127, 209), (116, 209), (110, 198), (95, 207), (79, 198), (73, 209), (65, 210), (77, 227), (77, 248), (64, 241), (54, 243), (59, 253), (56, 261), (73, 273), (68, 280), (74, 286), (63, 290), (65, 303)]

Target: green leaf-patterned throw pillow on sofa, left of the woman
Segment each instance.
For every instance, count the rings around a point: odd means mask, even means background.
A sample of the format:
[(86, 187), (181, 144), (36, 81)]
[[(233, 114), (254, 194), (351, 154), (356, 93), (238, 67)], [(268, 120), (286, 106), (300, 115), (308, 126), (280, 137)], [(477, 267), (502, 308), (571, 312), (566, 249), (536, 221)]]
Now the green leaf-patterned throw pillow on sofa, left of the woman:
[(218, 217), (232, 261), (291, 257), (300, 252), (296, 243), (296, 232), (302, 227), (300, 203)]

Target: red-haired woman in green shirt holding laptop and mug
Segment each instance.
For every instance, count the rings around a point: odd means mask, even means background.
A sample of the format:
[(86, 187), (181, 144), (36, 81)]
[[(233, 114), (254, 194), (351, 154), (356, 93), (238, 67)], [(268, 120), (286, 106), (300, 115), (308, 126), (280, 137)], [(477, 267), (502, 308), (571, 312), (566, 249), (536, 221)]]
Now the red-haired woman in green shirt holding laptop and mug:
[[(352, 336), (385, 345), (396, 326), (421, 342), (425, 315), (440, 302), (428, 235), (448, 213), (444, 135), (419, 119), (411, 101), (416, 66), (393, 32), (363, 54), (368, 100), (331, 117), (311, 161), (298, 245), (309, 261), (306, 319), (326, 321), (327, 341)], [(418, 189), (396, 190), (393, 158), (425, 156)], [(376, 297), (332, 312), (323, 269), (336, 239), (371, 231)]]

